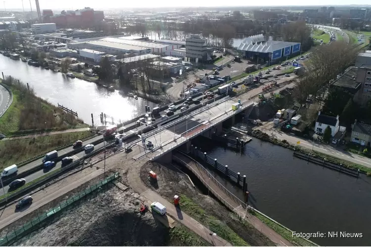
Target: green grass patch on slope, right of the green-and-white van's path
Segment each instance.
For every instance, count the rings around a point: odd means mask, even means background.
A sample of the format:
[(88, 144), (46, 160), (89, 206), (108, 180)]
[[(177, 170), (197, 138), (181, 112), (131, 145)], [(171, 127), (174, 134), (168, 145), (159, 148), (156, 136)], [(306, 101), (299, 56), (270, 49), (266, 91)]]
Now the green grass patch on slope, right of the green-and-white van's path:
[(215, 232), (219, 237), (227, 240), (233, 246), (249, 246), (223, 221), (220, 221), (214, 216), (209, 215), (204, 209), (193, 203), (192, 200), (187, 198), (185, 195), (181, 195), (180, 198), (182, 210), (201, 224), (208, 226), (208, 228), (212, 232)]

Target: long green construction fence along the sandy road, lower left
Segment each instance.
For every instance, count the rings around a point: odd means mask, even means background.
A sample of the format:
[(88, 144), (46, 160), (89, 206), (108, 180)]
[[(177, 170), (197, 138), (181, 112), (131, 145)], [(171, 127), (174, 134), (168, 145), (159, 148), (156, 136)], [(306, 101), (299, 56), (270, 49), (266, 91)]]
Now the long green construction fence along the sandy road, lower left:
[(118, 177), (119, 177), (119, 174), (118, 174), (118, 172), (116, 172), (115, 174), (113, 174), (113, 175), (107, 177), (106, 179), (104, 179), (103, 181), (100, 181), (100, 182), (94, 184), (93, 186), (89, 187), (88, 189), (80, 192), (76, 196), (72, 196), (70, 199), (60, 203), (58, 206), (53, 207), (53, 208), (49, 209), (47, 212), (36, 216), (31, 221), (26, 222), (24, 225), (22, 225), (17, 230), (14, 230), (14, 231), (6, 234), (4, 237), (2, 237), (0, 239), (0, 246), (9, 245), (11, 242), (17, 240), (19, 237), (22, 237), (26, 233), (28, 234), (28, 233), (34, 231), (46, 219), (54, 216), (58, 212), (63, 211), (68, 206), (70, 206), (70, 205), (74, 204), (75, 202), (79, 201), (80, 199), (88, 196), (89, 194), (96, 191), (97, 189), (99, 189), (103, 185), (108, 184), (109, 182), (111, 182), (113, 180), (116, 180)]

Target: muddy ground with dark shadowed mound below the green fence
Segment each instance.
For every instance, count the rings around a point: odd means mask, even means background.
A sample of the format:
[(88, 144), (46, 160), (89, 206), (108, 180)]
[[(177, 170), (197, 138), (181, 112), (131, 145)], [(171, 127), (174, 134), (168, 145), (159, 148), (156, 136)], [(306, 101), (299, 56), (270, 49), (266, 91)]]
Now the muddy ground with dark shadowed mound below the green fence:
[(150, 212), (139, 213), (142, 198), (114, 184), (82, 200), (12, 246), (184, 245)]

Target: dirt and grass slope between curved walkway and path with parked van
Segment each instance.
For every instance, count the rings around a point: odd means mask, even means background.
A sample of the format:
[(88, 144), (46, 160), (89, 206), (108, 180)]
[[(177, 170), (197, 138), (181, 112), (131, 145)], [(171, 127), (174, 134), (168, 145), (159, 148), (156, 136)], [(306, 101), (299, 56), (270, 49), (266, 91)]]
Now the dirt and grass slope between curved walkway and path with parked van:
[[(206, 188), (200, 182), (197, 183), (197, 178), (193, 177), (193, 174), (190, 173), (188, 178), (185, 174), (186, 170), (182, 171), (181, 169), (184, 168), (176, 164), (163, 165), (156, 162), (148, 162), (141, 167), (140, 178), (147, 187), (169, 201), (173, 199), (174, 195), (186, 195), (209, 214), (219, 219), (221, 223), (227, 224), (251, 246), (275, 246), (274, 243), (252, 226), (248, 227), (241, 224), (226, 207), (211, 196), (208, 196)], [(157, 174), (157, 182), (153, 183), (151, 182), (152, 180), (148, 179), (149, 170)], [(189, 179), (195, 184), (195, 188)]]

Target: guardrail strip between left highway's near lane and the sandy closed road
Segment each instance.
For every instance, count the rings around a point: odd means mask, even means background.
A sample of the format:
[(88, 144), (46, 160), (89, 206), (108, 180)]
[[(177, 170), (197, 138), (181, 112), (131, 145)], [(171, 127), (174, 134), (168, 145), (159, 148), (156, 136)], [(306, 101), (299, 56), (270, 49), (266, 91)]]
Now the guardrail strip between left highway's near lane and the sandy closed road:
[[(114, 146), (115, 145), (115, 142), (110, 142), (106, 145), (106, 148), (109, 148), (111, 146)], [(78, 166), (78, 165), (81, 165), (81, 161), (84, 161), (85, 159), (101, 152), (102, 150), (104, 150), (104, 147), (101, 147), (101, 148), (98, 148), (96, 150), (94, 150), (93, 152), (89, 153), (89, 154), (86, 154), (84, 157), (72, 162), (71, 164), (69, 165), (66, 165), (64, 167), (61, 167), (60, 170), (58, 172), (55, 172), (55, 173), (52, 173), (50, 176), (46, 176), (45, 178), (37, 181), (36, 183), (33, 183), (29, 186), (27, 186), (27, 184), (22, 187), (22, 189), (20, 189), (19, 191), (15, 191), (15, 192), (10, 192), (10, 193), (7, 193), (7, 194), (10, 194), (6, 197), (4, 197), (3, 199), (0, 200), (0, 206), (3, 206), (4, 204), (6, 204), (7, 202), (9, 201), (12, 201), (14, 200), (15, 198), (17, 198), (19, 195), (23, 195), (27, 192), (29, 192), (30, 190), (33, 190), (35, 187), (38, 187), (40, 184), (42, 183), (45, 183), (46, 181), (50, 180), (50, 179), (53, 179), (55, 177), (58, 177), (61, 173), (71, 169), (71, 168), (74, 168), (75, 166)], [(32, 182), (32, 181), (30, 181)]]

